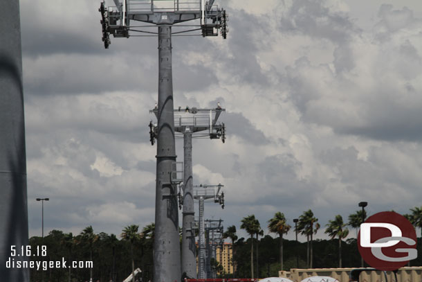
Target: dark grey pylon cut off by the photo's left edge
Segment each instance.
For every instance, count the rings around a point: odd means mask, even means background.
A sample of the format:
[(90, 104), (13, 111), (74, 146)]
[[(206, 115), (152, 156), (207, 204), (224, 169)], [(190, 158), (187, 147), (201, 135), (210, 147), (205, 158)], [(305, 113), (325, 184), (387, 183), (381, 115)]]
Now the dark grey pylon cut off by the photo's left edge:
[[(29, 281), (28, 268), (7, 267), (28, 245), (24, 90), (22, 83), (19, 1), (0, 9), (0, 281)], [(25, 249), (25, 247), (24, 247)], [(12, 262), (12, 261), (11, 261)]]

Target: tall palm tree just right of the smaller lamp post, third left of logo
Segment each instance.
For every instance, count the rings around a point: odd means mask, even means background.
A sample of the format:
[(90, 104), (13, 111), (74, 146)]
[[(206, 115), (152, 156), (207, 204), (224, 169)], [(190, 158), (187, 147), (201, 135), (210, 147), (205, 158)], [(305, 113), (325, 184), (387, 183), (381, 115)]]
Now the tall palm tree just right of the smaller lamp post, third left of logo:
[[(297, 231), (300, 231), (302, 235), (306, 235), (306, 264), (309, 268), (312, 268), (313, 234), (316, 234), (318, 229), (320, 229), (320, 224), (318, 223), (318, 218), (313, 216), (311, 209), (304, 211), (302, 215), (300, 215), (299, 222), (297, 223)], [(309, 242), (311, 243), (310, 247)]]

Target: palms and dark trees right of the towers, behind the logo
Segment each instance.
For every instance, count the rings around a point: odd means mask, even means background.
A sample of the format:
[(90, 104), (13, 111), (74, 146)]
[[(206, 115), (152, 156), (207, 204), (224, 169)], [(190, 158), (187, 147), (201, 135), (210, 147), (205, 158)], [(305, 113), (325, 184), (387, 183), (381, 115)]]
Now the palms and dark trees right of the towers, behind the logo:
[[(421, 238), (418, 239), (418, 245), (422, 243), (422, 206), (410, 209), (410, 213), (403, 216), (409, 220), (417, 229), (421, 229)], [(259, 236), (263, 236), (264, 231), (261, 228), (259, 220), (255, 215), (248, 215), (241, 220), (241, 229), (244, 229), (250, 236), (245, 241), (244, 238), (238, 240), (236, 235), (236, 227), (230, 226), (224, 233), (224, 238), (230, 238), (232, 241), (233, 265), (235, 265), (236, 277), (265, 277), (270, 275), (277, 275), (278, 270), (290, 270), (291, 268), (321, 268), (321, 267), (360, 267), (361, 261), (358, 252), (357, 236), (358, 227), (363, 223), (367, 217), (365, 210), (356, 211), (349, 215), (349, 221), (344, 222), (341, 215), (336, 215), (333, 220), (329, 220), (326, 224), (324, 233), (326, 233), (331, 240), (315, 240), (314, 254), (314, 240), (313, 236), (321, 228), (318, 223), (318, 218), (315, 218), (311, 209), (304, 211), (297, 220), (294, 220), (295, 228), (293, 231), (302, 236), (306, 236), (306, 243), (298, 243), (296, 240), (284, 240), (283, 236), (292, 229), (292, 226), (287, 223), (284, 213), (277, 212), (274, 217), (268, 220), (268, 230), (271, 233), (276, 233), (279, 236), (277, 243), (275, 239), (270, 236), (265, 236), (258, 240)], [(347, 227), (356, 229), (356, 238), (349, 238), (349, 229)], [(255, 236), (255, 238), (254, 238)], [(335, 243), (337, 246), (335, 246)], [(254, 244), (255, 244), (255, 267), (254, 267)], [(286, 249), (284, 249), (286, 244)], [(246, 249), (248, 245), (248, 249)], [(278, 258), (275, 252), (275, 245), (278, 245)], [(250, 249), (249, 249), (250, 248)], [(259, 254), (261, 249), (261, 254)], [(342, 249), (347, 254), (343, 259)], [(422, 252), (422, 248), (421, 251)], [(246, 259), (250, 256), (250, 261)], [(284, 258), (286, 256), (286, 258)], [(286, 264), (284, 260), (287, 260)], [(275, 263), (278, 261), (278, 263)], [(419, 256), (412, 262), (413, 265), (421, 265), (422, 258)], [(262, 267), (267, 266), (268, 270), (263, 270)], [(249, 269), (248, 269), (249, 268)]]

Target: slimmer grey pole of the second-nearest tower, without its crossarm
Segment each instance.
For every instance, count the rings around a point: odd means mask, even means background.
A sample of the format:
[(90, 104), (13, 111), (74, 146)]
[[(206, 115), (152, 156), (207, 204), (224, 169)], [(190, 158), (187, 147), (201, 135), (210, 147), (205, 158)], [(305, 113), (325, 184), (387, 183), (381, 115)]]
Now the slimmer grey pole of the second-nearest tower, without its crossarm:
[(190, 127), (186, 127), (183, 132), (183, 155), (182, 274), (196, 278), (195, 233), (192, 229), (195, 213), (192, 178), (192, 128)]

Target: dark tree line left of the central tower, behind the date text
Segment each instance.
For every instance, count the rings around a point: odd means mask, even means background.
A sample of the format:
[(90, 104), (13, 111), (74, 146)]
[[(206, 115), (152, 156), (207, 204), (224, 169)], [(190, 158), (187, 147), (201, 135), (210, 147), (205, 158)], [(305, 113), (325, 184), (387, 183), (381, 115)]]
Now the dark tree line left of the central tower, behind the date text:
[(31, 249), (45, 245), (47, 254), (33, 256), (31, 260), (62, 261), (64, 258), (67, 266), (72, 261), (92, 261), (93, 268), (31, 269), (30, 281), (122, 281), (134, 272), (135, 265), (143, 271), (143, 281), (152, 280), (154, 229), (154, 223), (147, 224), (141, 231), (138, 225), (132, 224), (116, 236), (95, 233), (89, 226), (76, 236), (59, 230), (50, 231), (44, 238), (33, 236), (29, 239)]

